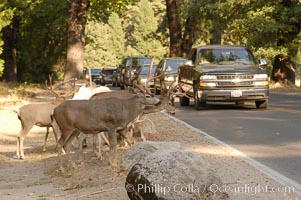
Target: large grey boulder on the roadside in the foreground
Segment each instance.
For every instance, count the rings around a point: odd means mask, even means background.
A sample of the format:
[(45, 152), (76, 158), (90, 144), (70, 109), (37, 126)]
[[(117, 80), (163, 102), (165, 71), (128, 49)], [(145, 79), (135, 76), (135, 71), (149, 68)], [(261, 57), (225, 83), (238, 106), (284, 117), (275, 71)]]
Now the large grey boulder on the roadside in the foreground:
[(177, 146), (179, 143), (143, 142), (135, 146), (136, 155), (126, 152), (127, 158), (131, 158), (128, 160), (136, 162), (126, 178), (129, 198), (226, 199), (226, 194), (216, 192), (222, 181), (210, 163), (201, 155), (177, 149)]

